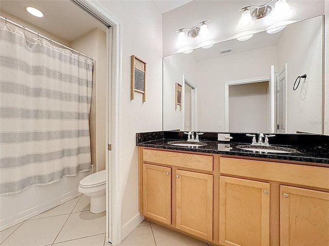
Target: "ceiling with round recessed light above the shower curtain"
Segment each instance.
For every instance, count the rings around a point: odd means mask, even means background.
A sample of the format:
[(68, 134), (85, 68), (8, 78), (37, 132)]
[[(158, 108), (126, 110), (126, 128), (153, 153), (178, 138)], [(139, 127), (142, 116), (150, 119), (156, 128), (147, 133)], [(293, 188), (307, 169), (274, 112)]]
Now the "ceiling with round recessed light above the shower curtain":
[[(32, 16), (25, 10), (26, 6), (32, 6), (41, 10), (45, 16), (42, 18)], [(75, 40), (96, 27), (103, 31), (107, 29), (96, 18), (69, 0), (1, 0), (0, 9), (68, 42)], [(3, 13), (1, 15), (3, 16)], [(68, 23), (69, 25), (67, 25)], [(26, 26), (26, 28), (29, 27)]]

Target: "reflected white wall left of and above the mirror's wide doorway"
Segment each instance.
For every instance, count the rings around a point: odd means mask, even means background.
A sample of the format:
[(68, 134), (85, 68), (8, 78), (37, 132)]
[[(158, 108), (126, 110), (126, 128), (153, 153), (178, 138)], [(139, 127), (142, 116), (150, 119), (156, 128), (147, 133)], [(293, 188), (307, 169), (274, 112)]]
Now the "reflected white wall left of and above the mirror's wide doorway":
[[(277, 66), (276, 52), (276, 46), (272, 46), (200, 61), (197, 64), (200, 131), (225, 130), (225, 83), (269, 77), (270, 66)], [(218, 127), (218, 121), (222, 121), (222, 127)]]

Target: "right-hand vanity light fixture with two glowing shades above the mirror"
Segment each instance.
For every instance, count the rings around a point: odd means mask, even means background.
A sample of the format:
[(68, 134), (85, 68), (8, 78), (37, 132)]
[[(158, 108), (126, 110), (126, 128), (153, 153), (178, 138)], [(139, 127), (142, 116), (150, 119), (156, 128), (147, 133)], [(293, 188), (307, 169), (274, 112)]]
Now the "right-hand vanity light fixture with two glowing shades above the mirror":
[[(236, 30), (245, 31), (253, 27), (254, 22), (252, 19), (260, 19), (267, 16), (272, 11), (272, 7), (269, 6), (271, 2), (275, 0), (270, 0), (263, 6), (247, 6), (239, 11), (242, 11), (241, 18), (239, 20), (239, 24), (236, 26)], [(255, 8), (251, 13), (249, 8)], [(275, 4), (274, 11), (276, 15), (284, 15), (282, 17), (288, 17), (287, 15), (291, 13), (291, 9), (287, 4), (286, 0), (277, 0)]]

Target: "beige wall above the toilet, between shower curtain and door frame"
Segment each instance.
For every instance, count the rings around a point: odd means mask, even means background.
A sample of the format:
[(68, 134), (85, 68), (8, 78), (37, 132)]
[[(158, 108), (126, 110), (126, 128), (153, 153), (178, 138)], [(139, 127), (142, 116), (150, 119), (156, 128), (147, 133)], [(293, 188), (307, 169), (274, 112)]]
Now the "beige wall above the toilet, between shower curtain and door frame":
[(95, 28), (70, 43), (70, 47), (95, 58), (93, 95), (90, 108), (90, 144), (95, 171), (105, 169), (105, 115), (106, 115), (106, 33)]

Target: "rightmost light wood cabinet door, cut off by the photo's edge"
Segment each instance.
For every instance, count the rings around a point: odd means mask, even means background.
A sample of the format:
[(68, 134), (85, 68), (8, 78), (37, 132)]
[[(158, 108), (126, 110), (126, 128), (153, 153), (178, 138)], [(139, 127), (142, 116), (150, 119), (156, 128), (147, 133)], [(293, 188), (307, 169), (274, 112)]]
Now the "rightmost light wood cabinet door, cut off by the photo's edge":
[(329, 245), (329, 193), (280, 187), (283, 246)]

